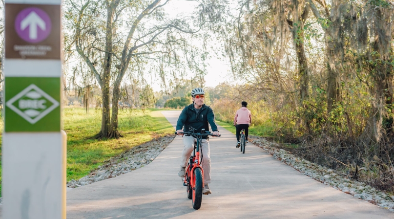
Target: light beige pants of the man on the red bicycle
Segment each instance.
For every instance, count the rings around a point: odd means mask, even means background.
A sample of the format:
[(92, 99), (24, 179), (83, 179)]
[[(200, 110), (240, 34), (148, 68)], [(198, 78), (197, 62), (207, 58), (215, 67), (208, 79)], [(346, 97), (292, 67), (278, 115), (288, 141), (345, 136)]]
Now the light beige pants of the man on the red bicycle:
[[(189, 157), (193, 152), (194, 142), (197, 141), (193, 136), (182, 137), (184, 148), (182, 152), (181, 166), (186, 167)], [(209, 140), (203, 139), (203, 145), (200, 145), (200, 157), (203, 155), (202, 167), (204, 170), (204, 184), (211, 182), (211, 158), (209, 152)]]

